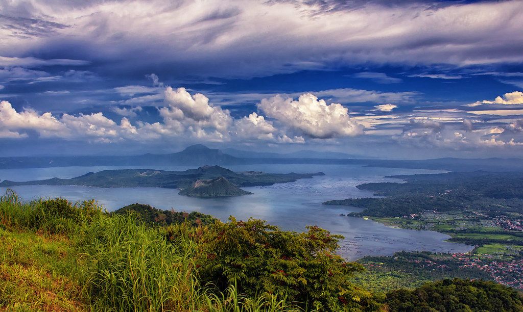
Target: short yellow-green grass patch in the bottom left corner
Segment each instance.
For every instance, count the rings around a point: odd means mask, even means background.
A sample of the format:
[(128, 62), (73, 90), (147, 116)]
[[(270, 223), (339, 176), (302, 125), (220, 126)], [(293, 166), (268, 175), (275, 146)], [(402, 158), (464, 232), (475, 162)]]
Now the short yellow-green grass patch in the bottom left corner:
[(16, 311), (83, 311), (77, 252), (63, 235), (0, 229), (0, 306)]

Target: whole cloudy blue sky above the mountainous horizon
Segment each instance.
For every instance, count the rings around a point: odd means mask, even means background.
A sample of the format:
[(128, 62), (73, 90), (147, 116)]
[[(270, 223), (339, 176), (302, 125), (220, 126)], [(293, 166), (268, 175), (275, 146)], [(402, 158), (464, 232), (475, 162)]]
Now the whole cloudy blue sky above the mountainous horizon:
[(523, 156), (523, 1), (0, 0), (0, 155)]

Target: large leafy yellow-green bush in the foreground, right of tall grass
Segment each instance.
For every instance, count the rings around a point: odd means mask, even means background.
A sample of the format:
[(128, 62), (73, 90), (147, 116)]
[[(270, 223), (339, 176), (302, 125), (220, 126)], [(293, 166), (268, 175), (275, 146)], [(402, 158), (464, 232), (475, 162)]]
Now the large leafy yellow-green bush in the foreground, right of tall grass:
[[(180, 230), (167, 228), (173, 244), (184, 241)], [(308, 230), (281, 231), (265, 221), (231, 217), (228, 223), (192, 229), (190, 237), (198, 245), (201, 279), (219, 289), (237, 285), (250, 296), (287, 296), (321, 310), (376, 307), (370, 292), (349, 281), (363, 267), (334, 253), (342, 236), (316, 226)]]

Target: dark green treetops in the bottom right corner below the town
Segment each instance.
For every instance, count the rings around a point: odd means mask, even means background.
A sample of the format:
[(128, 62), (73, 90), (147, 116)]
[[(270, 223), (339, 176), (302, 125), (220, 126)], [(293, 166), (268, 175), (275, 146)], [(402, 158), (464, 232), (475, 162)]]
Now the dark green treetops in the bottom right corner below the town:
[(387, 293), (390, 311), (521, 311), (523, 301), (510, 287), (481, 280), (442, 280), (414, 290)]

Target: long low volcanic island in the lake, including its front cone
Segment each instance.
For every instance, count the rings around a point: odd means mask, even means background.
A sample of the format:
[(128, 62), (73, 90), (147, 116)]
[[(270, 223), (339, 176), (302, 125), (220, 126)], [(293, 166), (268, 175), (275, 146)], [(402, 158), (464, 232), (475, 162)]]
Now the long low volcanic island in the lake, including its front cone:
[(180, 195), (195, 197), (231, 197), (252, 194), (241, 189), (246, 186), (264, 186), (295, 182), (312, 178), (317, 173), (264, 173), (260, 171), (234, 172), (221, 166), (201, 166), (186, 171), (154, 169), (123, 169), (89, 172), (70, 178), (51, 178), (38, 181), (13, 182), (5, 180), (0, 186), (17, 185), (81, 185), (95, 187), (164, 187), (180, 189)]

